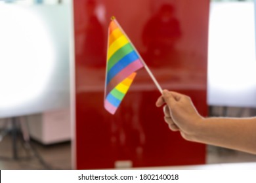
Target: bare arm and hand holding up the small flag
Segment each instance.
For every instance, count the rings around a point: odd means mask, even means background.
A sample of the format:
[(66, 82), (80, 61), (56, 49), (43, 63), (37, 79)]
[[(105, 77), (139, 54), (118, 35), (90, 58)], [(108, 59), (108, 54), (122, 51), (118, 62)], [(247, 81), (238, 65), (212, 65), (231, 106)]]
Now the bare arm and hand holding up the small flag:
[(167, 90), (156, 102), (164, 104), (165, 122), (184, 139), (256, 154), (256, 118), (203, 118), (190, 97)]

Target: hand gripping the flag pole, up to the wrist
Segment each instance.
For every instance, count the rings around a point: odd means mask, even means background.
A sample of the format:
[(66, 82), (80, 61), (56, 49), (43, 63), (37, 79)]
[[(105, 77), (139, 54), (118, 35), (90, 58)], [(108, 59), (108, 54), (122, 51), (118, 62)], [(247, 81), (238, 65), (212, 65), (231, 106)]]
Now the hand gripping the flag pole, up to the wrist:
[(156, 101), (156, 106), (161, 107), (164, 104), (164, 118), (169, 128), (172, 131), (180, 131), (184, 139), (191, 141), (203, 118), (198, 114), (190, 97), (163, 90), (163, 94)]

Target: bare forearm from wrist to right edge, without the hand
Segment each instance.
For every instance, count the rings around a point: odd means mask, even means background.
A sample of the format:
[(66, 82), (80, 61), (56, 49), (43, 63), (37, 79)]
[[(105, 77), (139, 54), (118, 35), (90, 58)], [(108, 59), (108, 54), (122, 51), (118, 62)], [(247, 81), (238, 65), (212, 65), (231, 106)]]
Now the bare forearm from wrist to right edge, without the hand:
[(256, 154), (256, 118), (205, 118), (191, 140)]

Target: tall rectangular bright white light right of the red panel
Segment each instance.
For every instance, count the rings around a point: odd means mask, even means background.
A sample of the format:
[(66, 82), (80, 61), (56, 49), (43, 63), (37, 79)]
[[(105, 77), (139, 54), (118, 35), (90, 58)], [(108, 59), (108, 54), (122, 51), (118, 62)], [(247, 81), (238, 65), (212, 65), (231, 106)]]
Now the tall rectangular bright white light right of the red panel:
[(208, 103), (256, 107), (253, 2), (211, 3)]

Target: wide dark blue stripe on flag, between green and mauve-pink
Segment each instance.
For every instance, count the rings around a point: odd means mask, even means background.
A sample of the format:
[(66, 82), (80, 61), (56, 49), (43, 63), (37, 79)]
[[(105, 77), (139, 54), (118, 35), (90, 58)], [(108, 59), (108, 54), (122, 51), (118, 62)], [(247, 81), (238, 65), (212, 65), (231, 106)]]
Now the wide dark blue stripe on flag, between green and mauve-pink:
[(116, 65), (114, 65), (108, 72), (107, 84), (110, 82), (110, 80), (112, 80), (112, 78), (114, 78), (114, 76), (116, 76), (120, 71), (125, 69), (127, 65), (131, 64), (133, 61), (136, 61), (137, 59), (139, 59), (139, 56), (135, 51), (127, 54), (124, 58), (120, 59), (116, 63)]

